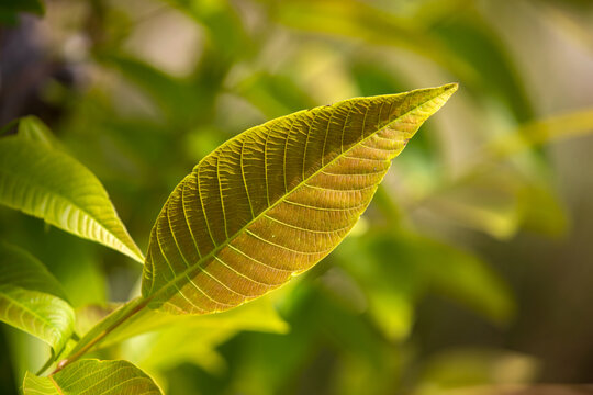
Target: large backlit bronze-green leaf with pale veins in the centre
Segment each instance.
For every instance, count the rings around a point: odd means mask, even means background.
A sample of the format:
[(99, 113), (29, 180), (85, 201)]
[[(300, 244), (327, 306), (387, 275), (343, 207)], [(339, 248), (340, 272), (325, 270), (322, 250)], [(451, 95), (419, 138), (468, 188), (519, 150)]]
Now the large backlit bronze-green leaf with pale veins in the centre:
[(346, 237), (391, 159), (456, 90), (301, 111), (214, 150), (153, 227), (144, 303), (174, 314), (226, 311), (310, 269)]

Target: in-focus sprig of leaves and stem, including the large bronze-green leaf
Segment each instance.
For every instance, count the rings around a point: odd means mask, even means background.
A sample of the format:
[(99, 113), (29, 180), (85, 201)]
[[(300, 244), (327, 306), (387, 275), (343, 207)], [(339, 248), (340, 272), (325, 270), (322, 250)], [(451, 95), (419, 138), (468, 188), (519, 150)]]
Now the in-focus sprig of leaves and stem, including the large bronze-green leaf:
[[(78, 360), (132, 317), (150, 314), (147, 308), (181, 315), (219, 313), (310, 269), (348, 234), (391, 159), (456, 90), (456, 84), (448, 84), (302, 111), (250, 128), (214, 150), (174, 190), (156, 219), (143, 295), (75, 340), (63, 360), (58, 356), (74, 335), (71, 307), (42, 294), (43, 275), (49, 284), (55, 282), (53, 287), (58, 283), (40, 262), (25, 252), (7, 253), (2, 318), (45, 339), (55, 348), (47, 364), (57, 363), (46, 379), (27, 374), (25, 394), (82, 388), (93, 394), (158, 393), (136, 368), (120, 366), (127, 362)], [(142, 257), (99, 181), (76, 160), (52, 149), (46, 135), (46, 127), (24, 119), (16, 136), (0, 140), (1, 202)], [(105, 386), (89, 388), (97, 381)]]

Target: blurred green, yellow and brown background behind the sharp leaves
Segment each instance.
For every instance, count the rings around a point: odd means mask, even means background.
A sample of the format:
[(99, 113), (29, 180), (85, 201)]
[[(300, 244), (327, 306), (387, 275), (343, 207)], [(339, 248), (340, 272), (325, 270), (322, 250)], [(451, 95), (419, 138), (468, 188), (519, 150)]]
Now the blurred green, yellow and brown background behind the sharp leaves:
[[(18, 13), (18, 11), (27, 11)], [(0, 4), (0, 126), (45, 122), (143, 250), (219, 144), (298, 110), (457, 81), (353, 234), (220, 317), (98, 356), (167, 394), (458, 393), (593, 382), (593, 2), (38, 0)], [(142, 268), (0, 207), (80, 332)], [(1, 327), (0, 388), (46, 348)], [(463, 392), (466, 394), (466, 392)]]

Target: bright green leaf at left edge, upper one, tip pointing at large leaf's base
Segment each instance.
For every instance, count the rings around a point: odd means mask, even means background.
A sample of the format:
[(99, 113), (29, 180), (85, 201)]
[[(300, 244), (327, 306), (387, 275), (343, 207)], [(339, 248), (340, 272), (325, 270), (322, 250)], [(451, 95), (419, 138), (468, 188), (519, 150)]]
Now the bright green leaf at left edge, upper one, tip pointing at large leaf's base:
[(97, 177), (45, 144), (0, 139), (0, 203), (144, 260)]

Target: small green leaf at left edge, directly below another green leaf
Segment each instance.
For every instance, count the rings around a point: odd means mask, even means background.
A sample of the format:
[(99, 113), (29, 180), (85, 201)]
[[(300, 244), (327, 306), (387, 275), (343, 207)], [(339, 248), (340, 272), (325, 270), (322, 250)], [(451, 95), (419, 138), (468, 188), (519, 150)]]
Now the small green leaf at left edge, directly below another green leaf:
[(74, 311), (57, 280), (29, 252), (0, 241), (0, 320), (47, 342), (57, 354), (74, 331)]

